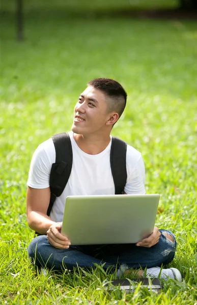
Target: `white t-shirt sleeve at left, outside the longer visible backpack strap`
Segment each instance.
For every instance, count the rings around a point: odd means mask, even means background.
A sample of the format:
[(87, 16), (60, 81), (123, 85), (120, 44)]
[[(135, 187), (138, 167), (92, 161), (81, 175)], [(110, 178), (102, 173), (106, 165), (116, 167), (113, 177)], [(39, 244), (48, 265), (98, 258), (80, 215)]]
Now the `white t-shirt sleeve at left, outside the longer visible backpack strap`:
[(51, 162), (42, 143), (37, 147), (32, 157), (27, 186), (34, 189), (48, 188), (50, 170)]

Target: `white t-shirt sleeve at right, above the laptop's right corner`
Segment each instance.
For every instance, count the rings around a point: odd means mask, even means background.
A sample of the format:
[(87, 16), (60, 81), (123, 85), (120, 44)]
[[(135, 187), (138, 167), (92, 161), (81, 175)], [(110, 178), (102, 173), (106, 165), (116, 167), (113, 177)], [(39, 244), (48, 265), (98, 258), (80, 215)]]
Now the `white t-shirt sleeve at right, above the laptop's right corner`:
[(145, 194), (145, 165), (142, 155), (133, 147), (129, 147), (126, 158), (127, 182), (124, 191), (126, 194)]

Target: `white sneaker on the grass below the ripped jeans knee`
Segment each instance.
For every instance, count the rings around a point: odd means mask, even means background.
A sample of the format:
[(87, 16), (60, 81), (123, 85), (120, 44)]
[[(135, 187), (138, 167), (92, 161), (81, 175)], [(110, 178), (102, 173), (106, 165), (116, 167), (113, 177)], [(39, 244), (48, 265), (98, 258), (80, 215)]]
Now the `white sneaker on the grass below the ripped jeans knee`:
[(160, 267), (148, 268), (146, 275), (151, 278), (160, 278), (168, 280), (169, 278), (181, 281), (181, 272), (176, 268), (162, 269)]

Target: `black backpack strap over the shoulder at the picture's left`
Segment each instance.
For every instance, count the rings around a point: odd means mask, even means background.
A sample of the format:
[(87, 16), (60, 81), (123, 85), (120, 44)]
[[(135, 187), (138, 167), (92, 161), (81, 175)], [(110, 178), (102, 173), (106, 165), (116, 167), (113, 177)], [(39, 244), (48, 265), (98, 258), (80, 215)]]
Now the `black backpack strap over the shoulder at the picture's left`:
[(68, 133), (60, 133), (52, 136), (55, 147), (55, 163), (50, 171), (50, 202), (47, 216), (50, 215), (56, 197), (64, 191), (72, 170), (72, 145)]

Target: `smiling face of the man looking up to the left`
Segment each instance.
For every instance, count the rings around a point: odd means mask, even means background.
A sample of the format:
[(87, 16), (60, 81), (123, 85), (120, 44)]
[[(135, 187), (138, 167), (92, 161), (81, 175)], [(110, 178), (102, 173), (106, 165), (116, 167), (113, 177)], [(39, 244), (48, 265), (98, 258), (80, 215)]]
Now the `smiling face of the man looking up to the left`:
[(72, 131), (82, 135), (104, 133), (108, 118), (106, 96), (88, 86), (74, 107)]

